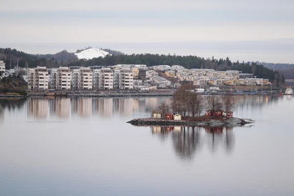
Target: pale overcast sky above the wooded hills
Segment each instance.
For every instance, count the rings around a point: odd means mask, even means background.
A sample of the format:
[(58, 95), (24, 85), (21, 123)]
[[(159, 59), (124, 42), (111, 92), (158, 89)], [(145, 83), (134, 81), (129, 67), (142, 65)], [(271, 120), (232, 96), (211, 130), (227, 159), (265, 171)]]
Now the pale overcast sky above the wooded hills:
[(0, 0), (0, 47), (294, 63), (294, 0)]

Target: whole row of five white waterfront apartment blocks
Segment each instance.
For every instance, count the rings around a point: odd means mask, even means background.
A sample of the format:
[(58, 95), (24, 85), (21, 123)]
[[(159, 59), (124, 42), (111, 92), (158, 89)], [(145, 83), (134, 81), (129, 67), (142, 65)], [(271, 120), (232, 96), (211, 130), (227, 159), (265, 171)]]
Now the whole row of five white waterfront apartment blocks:
[[(49, 73), (50, 72), (50, 73)], [(130, 69), (70, 69), (46, 67), (29, 69), (28, 90), (98, 90), (133, 89), (134, 74)]]

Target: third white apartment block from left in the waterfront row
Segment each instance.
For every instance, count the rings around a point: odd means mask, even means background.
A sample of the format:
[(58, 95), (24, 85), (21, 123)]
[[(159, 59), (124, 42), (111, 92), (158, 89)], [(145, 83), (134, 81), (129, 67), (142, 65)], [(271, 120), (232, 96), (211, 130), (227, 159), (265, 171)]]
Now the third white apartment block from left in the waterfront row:
[(73, 90), (91, 90), (93, 86), (93, 73), (90, 68), (74, 69), (72, 72)]

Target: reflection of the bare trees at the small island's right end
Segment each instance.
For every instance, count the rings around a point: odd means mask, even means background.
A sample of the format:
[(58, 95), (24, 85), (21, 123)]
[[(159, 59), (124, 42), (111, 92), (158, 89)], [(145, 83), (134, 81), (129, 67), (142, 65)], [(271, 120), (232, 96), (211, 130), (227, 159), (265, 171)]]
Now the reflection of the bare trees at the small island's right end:
[(224, 146), (226, 153), (230, 154), (235, 146), (235, 135), (233, 127), (205, 126), (208, 133), (208, 148), (214, 153), (221, 145)]

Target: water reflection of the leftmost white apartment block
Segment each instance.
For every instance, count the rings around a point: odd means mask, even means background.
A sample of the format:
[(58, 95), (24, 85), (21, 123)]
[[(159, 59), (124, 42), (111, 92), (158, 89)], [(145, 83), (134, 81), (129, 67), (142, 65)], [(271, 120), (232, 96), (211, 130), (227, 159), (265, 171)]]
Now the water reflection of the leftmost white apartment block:
[(36, 119), (47, 119), (48, 98), (28, 98), (27, 116)]

